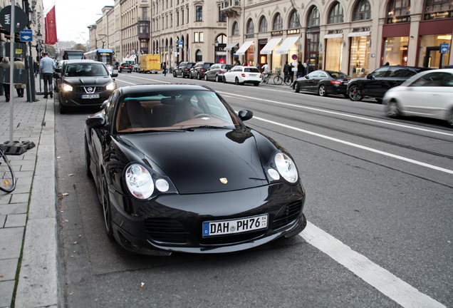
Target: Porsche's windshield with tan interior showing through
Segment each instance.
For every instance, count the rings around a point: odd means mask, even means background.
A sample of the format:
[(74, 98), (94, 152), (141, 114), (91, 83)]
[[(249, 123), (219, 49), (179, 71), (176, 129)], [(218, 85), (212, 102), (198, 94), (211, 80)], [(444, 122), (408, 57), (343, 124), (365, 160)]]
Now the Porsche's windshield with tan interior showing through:
[(234, 111), (212, 91), (135, 93), (120, 98), (115, 128), (118, 133), (145, 130), (234, 128)]

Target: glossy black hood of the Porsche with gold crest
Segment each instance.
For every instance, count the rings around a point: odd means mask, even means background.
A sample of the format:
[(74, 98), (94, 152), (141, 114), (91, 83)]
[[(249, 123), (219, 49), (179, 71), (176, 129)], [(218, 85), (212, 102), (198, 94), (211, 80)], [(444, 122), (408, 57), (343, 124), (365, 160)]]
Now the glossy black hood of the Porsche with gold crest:
[(129, 148), (137, 160), (149, 162), (157, 172), (162, 170), (181, 194), (269, 184), (256, 140), (249, 130), (196, 129), (121, 135), (118, 142)]

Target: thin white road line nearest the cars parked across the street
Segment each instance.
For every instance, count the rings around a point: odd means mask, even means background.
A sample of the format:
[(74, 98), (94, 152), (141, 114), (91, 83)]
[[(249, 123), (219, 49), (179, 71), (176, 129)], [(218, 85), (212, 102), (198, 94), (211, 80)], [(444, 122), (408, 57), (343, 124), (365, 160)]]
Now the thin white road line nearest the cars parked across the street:
[[(356, 119), (359, 119), (359, 120), (367, 120), (369, 122), (382, 123), (382, 124), (385, 124), (385, 125), (392, 125), (392, 126), (399, 126), (399, 127), (402, 127), (402, 128), (409, 128), (409, 129), (412, 129), (412, 130), (421, 130), (421, 131), (425, 131), (427, 133), (437, 133), (437, 134), (440, 134), (440, 135), (453, 136), (453, 133), (446, 133), (446, 132), (439, 131), (439, 130), (430, 130), (430, 129), (426, 129), (426, 128), (417, 128), (417, 127), (411, 126), (411, 125), (393, 123), (393, 122), (388, 122), (388, 121), (385, 121), (385, 120), (375, 120), (375, 119), (372, 119), (372, 118), (365, 118), (365, 117), (360, 117), (360, 116), (353, 116), (353, 115), (348, 115), (347, 113), (340, 113), (340, 112), (336, 112), (336, 111), (327, 111), (327, 110), (323, 110), (323, 109), (320, 109), (320, 108), (301, 106), (301, 105), (296, 105), (296, 104), (293, 104), (293, 103), (283, 103), (283, 102), (279, 102), (279, 101), (271, 101), (271, 100), (267, 100), (267, 99), (264, 99), (264, 98), (253, 98), (251, 96), (243, 96), (243, 95), (234, 94), (234, 93), (226, 93), (226, 92), (220, 92), (220, 91), (218, 91), (218, 92), (222, 93), (222, 94), (225, 94), (225, 95), (230, 95), (230, 96), (237, 96), (237, 97), (241, 97), (241, 98), (249, 98), (249, 99), (254, 99), (256, 101), (265, 101), (267, 103), (275, 103), (277, 105), (291, 106), (291, 107), (296, 107), (296, 108), (308, 109), (308, 110), (318, 111), (318, 112), (322, 112), (322, 113), (330, 113), (330, 114), (334, 114), (336, 116), (343, 116), (343, 117), (346, 117), (346, 118), (356, 118)], [(288, 92), (286, 92), (286, 93), (288, 93)]]

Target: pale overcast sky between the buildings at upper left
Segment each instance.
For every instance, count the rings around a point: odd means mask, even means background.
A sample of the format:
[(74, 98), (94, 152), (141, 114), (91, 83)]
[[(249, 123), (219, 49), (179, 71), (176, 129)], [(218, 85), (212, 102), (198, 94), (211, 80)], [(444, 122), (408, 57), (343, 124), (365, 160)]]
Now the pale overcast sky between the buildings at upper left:
[(87, 26), (102, 17), (104, 6), (113, 6), (113, 0), (43, 0), (47, 13), (55, 4), (58, 41), (75, 41), (85, 44), (89, 34)]

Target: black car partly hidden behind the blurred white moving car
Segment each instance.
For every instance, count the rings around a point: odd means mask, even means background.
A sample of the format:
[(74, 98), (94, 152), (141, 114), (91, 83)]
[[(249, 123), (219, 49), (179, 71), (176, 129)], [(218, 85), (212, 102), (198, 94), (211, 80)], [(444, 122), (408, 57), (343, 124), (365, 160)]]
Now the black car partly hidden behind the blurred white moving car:
[(413, 66), (382, 66), (363, 78), (353, 78), (348, 83), (348, 96), (351, 101), (362, 101), (365, 97), (376, 98), (381, 103), (385, 92), (400, 86), (411, 76), (429, 68)]

